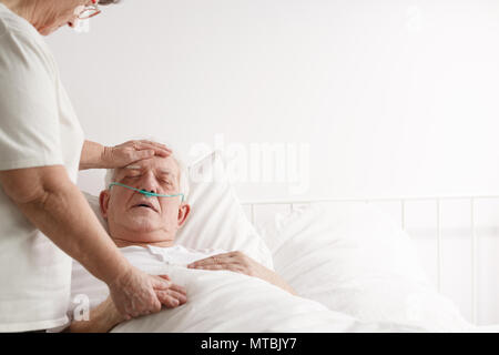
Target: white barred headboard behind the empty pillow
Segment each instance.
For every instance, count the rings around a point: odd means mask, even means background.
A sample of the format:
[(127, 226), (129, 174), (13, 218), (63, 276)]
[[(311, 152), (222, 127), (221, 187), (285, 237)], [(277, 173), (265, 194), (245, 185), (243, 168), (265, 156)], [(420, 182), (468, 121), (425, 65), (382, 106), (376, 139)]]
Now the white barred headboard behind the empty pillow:
[[(449, 302), (457, 301), (458, 312), (467, 322), (480, 325), (477, 329), (499, 329), (499, 326), (495, 325), (498, 315), (491, 314), (497, 304), (493, 286), (497, 277), (493, 275), (495, 264), (490, 262), (490, 258), (495, 258), (495, 253), (497, 255), (499, 252), (496, 245), (499, 223), (498, 195), (246, 201), (243, 205), (248, 219), (264, 236), (268, 225), (276, 223), (276, 219), (284, 220), (282, 223), (285, 224), (297, 224), (299, 214), (303, 214), (299, 211), (312, 206), (332, 206), (338, 211), (366, 205), (378, 210), (398, 225), (398, 233), (410, 234), (410, 247), (418, 254), (415, 262), (421, 264), (426, 261), (422, 270), (426, 282), (429, 282), (438, 294), (445, 294)], [(426, 210), (426, 220), (431, 222), (427, 221), (426, 225), (430, 224), (431, 227), (418, 229), (411, 225), (415, 219), (410, 214), (420, 213), (421, 209)], [(459, 227), (449, 227), (451, 219), (459, 219)], [(359, 223), (369, 223), (368, 220), (369, 216), (358, 219)], [(306, 234), (303, 230), (301, 233)], [(271, 246), (276, 234), (278, 233), (274, 232), (266, 236)], [(310, 234), (313, 233), (308, 236)], [(452, 255), (456, 246), (458, 255)], [(273, 252), (275, 253), (275, 250)], [(287, 276), (293, 278), (296, 275)], [(456, 277), (460, 278), (459, 285), (455, 284)], [(319, 301), (327, 303), (327, 300)]]

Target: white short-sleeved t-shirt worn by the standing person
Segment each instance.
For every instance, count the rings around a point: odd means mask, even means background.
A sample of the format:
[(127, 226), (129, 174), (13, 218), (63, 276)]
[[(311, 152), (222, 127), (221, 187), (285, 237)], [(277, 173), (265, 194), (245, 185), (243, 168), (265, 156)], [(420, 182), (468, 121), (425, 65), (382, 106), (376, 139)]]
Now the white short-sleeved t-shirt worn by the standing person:
[[(43, 38), (0, 3), (0, 171), (64, 165), (77, 182), (83, 132)], [(0, 189), (0, 332), (67, 322), (71, 258)]]

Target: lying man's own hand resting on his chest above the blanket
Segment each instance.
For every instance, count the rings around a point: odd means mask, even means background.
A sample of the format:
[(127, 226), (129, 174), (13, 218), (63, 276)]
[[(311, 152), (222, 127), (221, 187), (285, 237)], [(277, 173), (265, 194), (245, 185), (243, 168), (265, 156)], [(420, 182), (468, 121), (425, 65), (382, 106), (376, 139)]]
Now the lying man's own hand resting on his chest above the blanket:
[(265, 267), (242, 252), (213, 255), (191, 263), (187, 267), (201, 270), (228, 270), (263, 280), (267, 278)]

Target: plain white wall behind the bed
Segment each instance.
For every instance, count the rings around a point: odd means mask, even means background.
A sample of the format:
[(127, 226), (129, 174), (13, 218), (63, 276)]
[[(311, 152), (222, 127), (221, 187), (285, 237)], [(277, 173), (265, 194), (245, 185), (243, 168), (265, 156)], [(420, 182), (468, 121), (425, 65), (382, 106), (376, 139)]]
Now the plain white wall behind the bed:
[[(88, 33), (48, 39), (90, 140), (154, 135), (187, 160), (221, 138), (246, 152), (308, 148), (308, 189), (256, 179), (237, 184), (242, 200), (499, 194), (496, 0), (126, 0), (103, 10)], [(83, 172), (80, 186), (96, 193), (102, 176)], [(497, 234), (495, 211), (486, 224)], [(447, 258), (456, 280), (459, 247)], [(487, 277), (492, 312), (480, 322), (499, 323), (498, 277)], [(449, 287), (469, 316), (469, 285)]]

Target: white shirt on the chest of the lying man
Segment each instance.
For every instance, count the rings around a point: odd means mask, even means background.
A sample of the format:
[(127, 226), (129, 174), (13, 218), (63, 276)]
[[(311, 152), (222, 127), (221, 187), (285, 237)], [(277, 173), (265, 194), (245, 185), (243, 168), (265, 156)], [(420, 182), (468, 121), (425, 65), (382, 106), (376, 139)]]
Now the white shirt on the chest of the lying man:
[[(216, 254), (227, 253), (224, 250), (192, 250), (182, 245), (171, 247), (125, 246), (120, 248), (126, 260), (139, 270), (151, 274), (161, 275), (167, 270), (165, 266), (183, 266), (210, 257)], [(172, 280), (173, 283), (182, 285), (181, 281)], [(68, 314), (72, 317), (78, 306), (94, 308), (109, 296), (109, 288), (105, 283), (90, 274), (79, 262), (73, 261), (73, 272), (71, 277), (71, 303)], [(78, 311), (77, 311), (78, 312)]]

